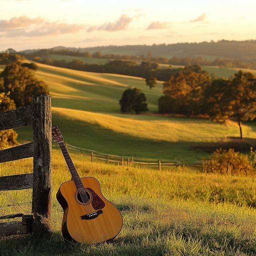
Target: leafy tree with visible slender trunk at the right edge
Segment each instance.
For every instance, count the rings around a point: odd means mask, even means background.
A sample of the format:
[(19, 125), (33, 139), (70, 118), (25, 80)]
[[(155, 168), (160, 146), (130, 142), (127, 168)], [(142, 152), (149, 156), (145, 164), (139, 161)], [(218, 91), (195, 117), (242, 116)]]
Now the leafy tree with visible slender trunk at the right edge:
[(242, 139), (242, 121), (256, 117), (256, 77), (241, 70), (231, 80), (216, 79), (205, 90), (212, 120), (235, 118)]

